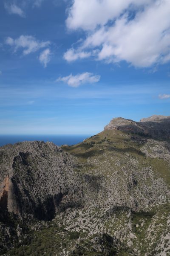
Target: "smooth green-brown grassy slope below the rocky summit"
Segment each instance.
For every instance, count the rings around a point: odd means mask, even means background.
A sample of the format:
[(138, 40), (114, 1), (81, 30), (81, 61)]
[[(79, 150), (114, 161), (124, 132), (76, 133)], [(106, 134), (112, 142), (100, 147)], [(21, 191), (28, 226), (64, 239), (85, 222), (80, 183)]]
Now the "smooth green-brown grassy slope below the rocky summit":
[[(131, 134), (128, 135), (119, 130), (102, 131), (93, 137), (87, 138), (83, 143), (73, 146), (62, 146), (62, 148), (70, 154), (79, 157), (79, 160), (83, 164), (87, 163), (88, 157), (97, 157), (102, 153), (119, 157), (123, 163), (124, 154), (129, 153), (131, 157), (139, 160), (139, 166), (144, 167), (151, 165), (155, 174), (158, 175), (158, 177), (162, 177), (164, 182), (170, 185), (169, 163), (160, 158), (145, 157), (144, 153), (141, 151), (142, 145), (138, 142), (133, 142), (130, 138), (131, 136)], [(145, 139), (141, 136), (138, 137)], [(103, 160), (105, 160), (105, 158), (103, 158)]]

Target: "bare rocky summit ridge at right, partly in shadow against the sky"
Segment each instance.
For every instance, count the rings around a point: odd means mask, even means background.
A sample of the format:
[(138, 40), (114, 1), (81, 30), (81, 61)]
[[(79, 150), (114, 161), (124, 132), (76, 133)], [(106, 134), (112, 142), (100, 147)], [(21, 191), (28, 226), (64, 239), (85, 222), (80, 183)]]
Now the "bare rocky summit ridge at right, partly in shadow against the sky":
[(122, 117), (113, 118), (105, 130), (121, 130), (159, 140), (170, 140), (170, 116), (150, 116), (135, 122)]

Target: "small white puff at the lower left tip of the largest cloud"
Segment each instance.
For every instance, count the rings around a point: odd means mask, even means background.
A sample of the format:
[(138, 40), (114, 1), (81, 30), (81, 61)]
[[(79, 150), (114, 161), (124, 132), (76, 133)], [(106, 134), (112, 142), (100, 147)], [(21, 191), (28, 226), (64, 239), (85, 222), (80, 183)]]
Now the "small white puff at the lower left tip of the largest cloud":
[(68, 49), (67, 52), (64, 54), (64, 58), (66, 61), (76, 61), (77, 59), (81, 58), (88, 58), (91, 55), (90, 52), (84, 52), (84, 51), (75, 51), (74, 49)]

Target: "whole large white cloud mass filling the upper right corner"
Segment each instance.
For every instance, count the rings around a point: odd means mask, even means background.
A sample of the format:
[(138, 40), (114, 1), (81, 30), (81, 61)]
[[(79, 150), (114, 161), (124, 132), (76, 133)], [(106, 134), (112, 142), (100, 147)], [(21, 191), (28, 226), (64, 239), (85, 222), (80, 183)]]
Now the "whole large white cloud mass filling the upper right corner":
[(69, 55), (76, 60), (86, 52), (87, 58), (94, 50), (97, 60), (136, 67), (170, 61), (169, 0), (74, 0), (66, 24), (87, 33), (77, 49), (65, 53), (68, 61)]

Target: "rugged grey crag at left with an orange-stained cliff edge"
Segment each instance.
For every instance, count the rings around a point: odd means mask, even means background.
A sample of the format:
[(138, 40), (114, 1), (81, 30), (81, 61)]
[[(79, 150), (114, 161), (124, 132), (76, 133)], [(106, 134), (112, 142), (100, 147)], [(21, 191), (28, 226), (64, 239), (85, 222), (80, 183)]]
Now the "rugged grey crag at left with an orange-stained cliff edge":
[(51, 219), (79, 205), (74, 157), (53, 143), (25, 142), (0, 148), (0, 208), (17, 215)]

